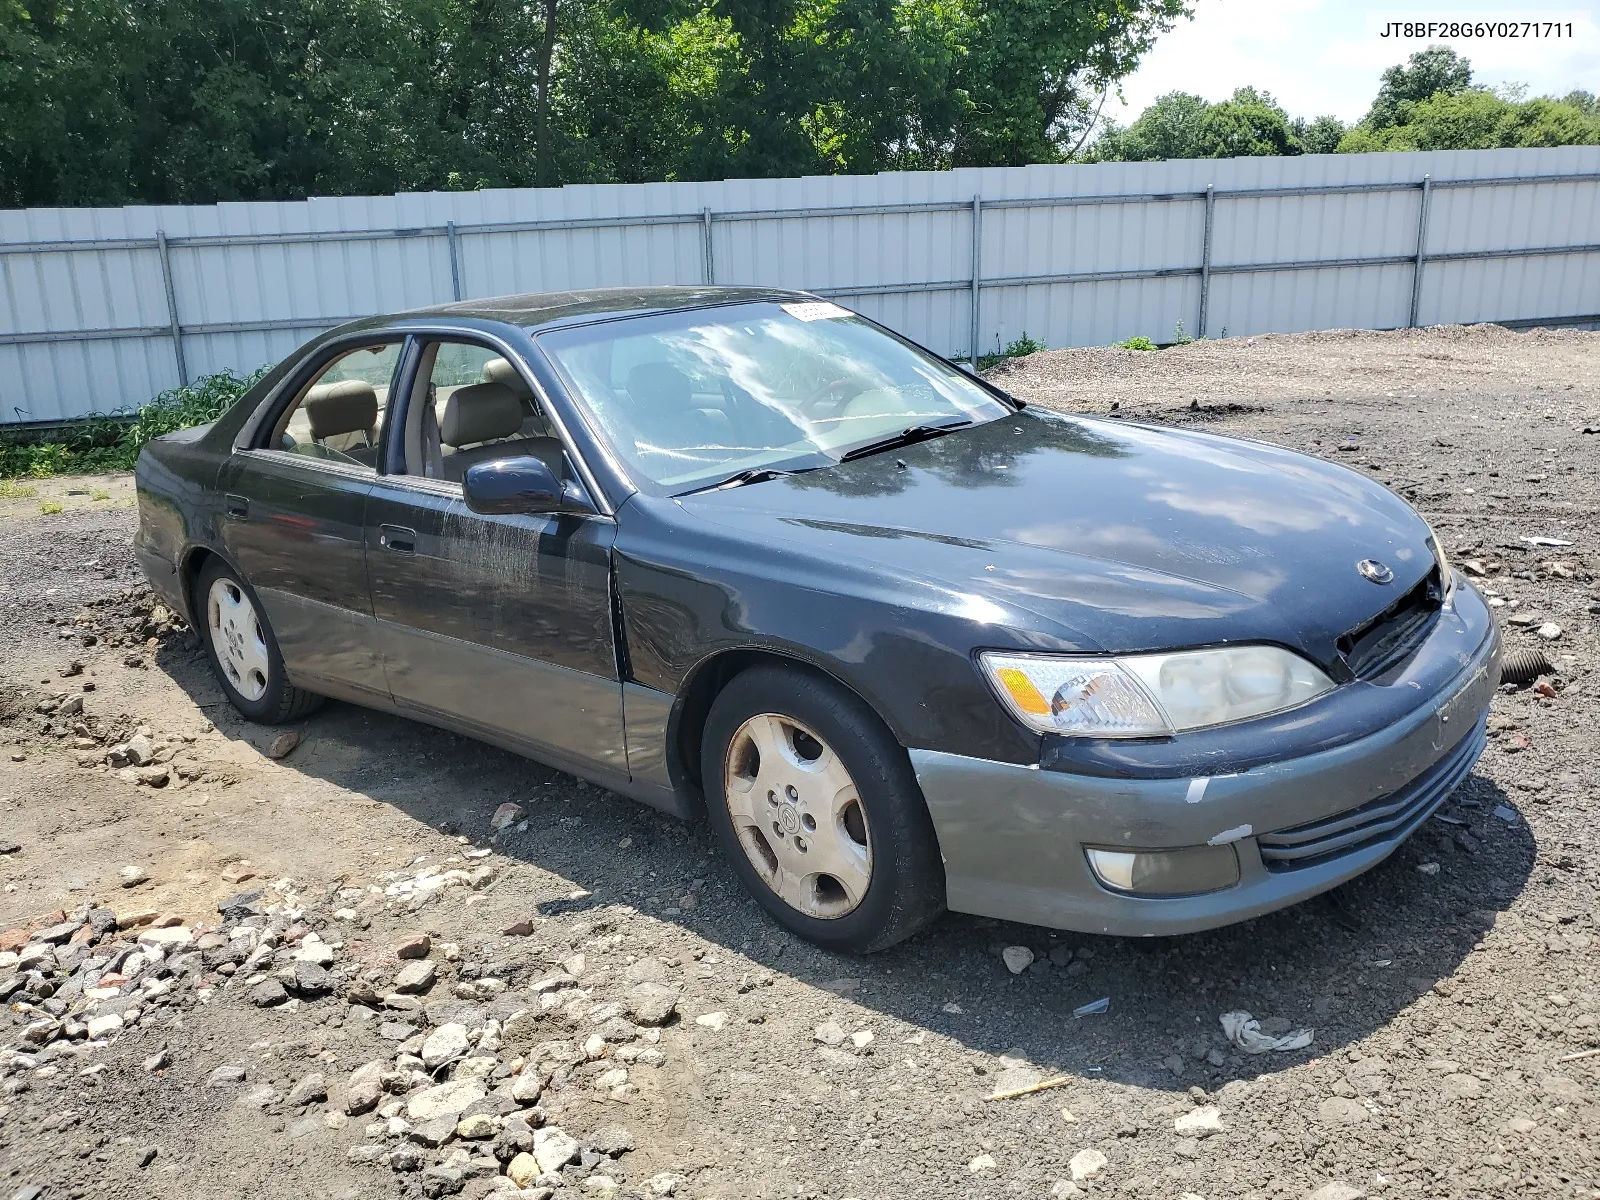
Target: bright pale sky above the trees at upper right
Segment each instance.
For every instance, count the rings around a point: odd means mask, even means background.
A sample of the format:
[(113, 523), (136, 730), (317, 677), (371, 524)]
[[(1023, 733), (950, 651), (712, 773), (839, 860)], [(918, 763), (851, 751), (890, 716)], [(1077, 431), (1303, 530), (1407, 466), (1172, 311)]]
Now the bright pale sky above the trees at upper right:
[[(1550, 8), (1506, 0), (1413, 0), (1400, 6), (1363, 0), (1192, 0), (1192, 6), (1194, 21), (1181, 19), (1123, 80), (1128, 104), (1120, 106), (1115, 96), (1106, 102), (1106, 114), (1120, 125), (1168, 91), (1219, 101), (1246, 83), (1270, 91), (1291, 117), (1333, 114), (1354, 122), (1371, 104), (1384, 67), (1434, 43), (1466, 56), (1475, 83), (1526, 83), (1528, 96), (1600, 91), (1600, 0)], [(1379, 37), (1390, 21), (1533, 19), (1571, 22), (1573, 37)]]

